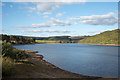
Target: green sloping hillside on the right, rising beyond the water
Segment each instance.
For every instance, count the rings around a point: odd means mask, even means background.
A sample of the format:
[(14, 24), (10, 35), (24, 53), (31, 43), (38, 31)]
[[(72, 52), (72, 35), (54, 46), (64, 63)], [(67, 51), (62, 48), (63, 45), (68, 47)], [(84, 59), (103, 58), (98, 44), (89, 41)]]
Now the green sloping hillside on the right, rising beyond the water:
[(86, 37), (79, 40), (79, 43), (91, 43), (91, 44), (118, 44), (120, 42), (119, 35), (120, 29), (105, 31), (100, 34), (96, 34), (91, 37)]

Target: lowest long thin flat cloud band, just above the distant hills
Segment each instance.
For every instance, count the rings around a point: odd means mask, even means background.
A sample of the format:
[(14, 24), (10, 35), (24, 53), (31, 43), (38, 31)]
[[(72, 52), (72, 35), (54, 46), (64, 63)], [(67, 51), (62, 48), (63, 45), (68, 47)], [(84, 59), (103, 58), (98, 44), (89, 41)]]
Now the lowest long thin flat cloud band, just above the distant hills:
[(40, 32), (40, 33), (44, 33), (44, 32), (47, 32), (47, 33), (69, 33), (71, 31), (69, 30), (23, 30), (22, 32)]

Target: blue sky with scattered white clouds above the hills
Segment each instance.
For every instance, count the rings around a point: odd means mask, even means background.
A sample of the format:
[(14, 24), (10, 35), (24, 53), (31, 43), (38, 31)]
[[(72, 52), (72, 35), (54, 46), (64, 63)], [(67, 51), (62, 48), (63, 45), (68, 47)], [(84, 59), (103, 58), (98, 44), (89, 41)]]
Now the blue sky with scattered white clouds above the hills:
[(2, 2), (2, 33), (84, 36), (118, 28), (117, 2)]

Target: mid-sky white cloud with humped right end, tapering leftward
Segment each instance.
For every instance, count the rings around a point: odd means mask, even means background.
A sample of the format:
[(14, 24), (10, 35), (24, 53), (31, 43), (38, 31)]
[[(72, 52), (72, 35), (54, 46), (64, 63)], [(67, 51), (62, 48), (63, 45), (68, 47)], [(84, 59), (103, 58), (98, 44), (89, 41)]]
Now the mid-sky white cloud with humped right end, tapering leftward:
[(51, 26), (70, 26), (71, 23), (69, 21), (61, 21), (58, 19), (51, 18), (45, 23), (40, 24), (32, 24), (26, 26), (17, 26), (17, 28), (40, 28), (40, 27), (51, 27)]

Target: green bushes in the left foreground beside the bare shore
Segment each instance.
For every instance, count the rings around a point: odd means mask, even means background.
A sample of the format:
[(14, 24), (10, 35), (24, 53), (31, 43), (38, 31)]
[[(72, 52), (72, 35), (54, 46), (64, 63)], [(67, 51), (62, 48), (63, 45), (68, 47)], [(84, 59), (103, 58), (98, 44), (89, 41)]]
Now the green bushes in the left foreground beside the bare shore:
[(4, 76), (10, 76), (14, 69), (14, 63), (19, 60), (26, 59), (28, 54), (24, 51), (15, 49), (8, 42), (2, 43), (2, 74)]

